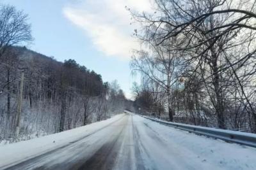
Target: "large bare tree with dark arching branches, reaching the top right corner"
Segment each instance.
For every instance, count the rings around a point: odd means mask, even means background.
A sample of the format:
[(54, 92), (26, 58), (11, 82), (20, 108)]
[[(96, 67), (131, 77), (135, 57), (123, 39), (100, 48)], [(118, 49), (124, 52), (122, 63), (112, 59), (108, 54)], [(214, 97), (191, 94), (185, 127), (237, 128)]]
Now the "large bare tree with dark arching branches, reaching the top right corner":
[[(255, 117), (251, 90), (255, 86), (255, 1), (156, 0), (155, 4), (154, 13), (132, 12), (142, 25), (136, 36), (155, 46), (168, 46), (172, 53), (182, 52), (178, 57), (184, 57), (189, 66), (188, 84), (191, 78), (200, 77), (218, 127), (226, 128), (225, 106), (237, 92), (244, 108)], [(173, 43), (173, 38), (179, 41)], [(235, 82), (236, 92), (230, 88)]]

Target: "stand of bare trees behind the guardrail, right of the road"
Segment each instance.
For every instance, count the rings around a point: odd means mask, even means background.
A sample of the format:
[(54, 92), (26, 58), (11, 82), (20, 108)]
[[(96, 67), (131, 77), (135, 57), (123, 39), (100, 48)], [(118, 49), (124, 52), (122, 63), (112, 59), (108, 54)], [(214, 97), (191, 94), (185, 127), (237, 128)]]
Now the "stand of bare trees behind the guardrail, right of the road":
[(137, 112), (255, 133), (255, 1), (154, 4), (152, 13), (127, 8), (144, 46), (131, 60)]

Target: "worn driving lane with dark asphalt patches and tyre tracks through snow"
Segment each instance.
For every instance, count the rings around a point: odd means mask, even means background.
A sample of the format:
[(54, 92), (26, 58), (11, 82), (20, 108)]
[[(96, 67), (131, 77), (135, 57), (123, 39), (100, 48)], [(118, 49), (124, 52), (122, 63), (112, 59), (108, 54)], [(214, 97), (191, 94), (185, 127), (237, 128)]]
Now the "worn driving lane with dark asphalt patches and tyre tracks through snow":
[(138, 124), (125, 115), (84, 139), (8, 169), (145, 169), (134, 143)]

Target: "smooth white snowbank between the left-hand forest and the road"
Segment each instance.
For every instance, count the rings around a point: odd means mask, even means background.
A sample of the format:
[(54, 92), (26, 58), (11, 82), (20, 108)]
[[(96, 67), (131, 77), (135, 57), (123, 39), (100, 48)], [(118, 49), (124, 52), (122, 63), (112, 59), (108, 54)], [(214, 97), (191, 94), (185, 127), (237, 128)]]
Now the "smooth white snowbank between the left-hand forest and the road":
[(17, 164), (18, 162), (22, 162), (31, 157), (36, 157), (37, 155), (60, 148), (61, 146), (68, 145), (69, 143), (73, 143), (74, 141), (93, 134), (109, 124), (120, 120), (124, 115), (125, 114), (123, 113), (109, 118), (108, 120), (95, 122), (69, 131), (0, 146), (0, 169), (1, 167)]

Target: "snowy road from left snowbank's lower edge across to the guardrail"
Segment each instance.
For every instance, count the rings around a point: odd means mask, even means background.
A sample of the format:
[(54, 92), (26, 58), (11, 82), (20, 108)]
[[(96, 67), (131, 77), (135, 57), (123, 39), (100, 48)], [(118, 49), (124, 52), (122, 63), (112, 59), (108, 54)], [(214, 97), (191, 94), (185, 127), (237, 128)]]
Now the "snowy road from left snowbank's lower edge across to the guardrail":
[[(246, 161), (221, 148), (247, 154)], [(6, 169), (254, 169), (254, 153), (125, 114), (79, 141)]]

